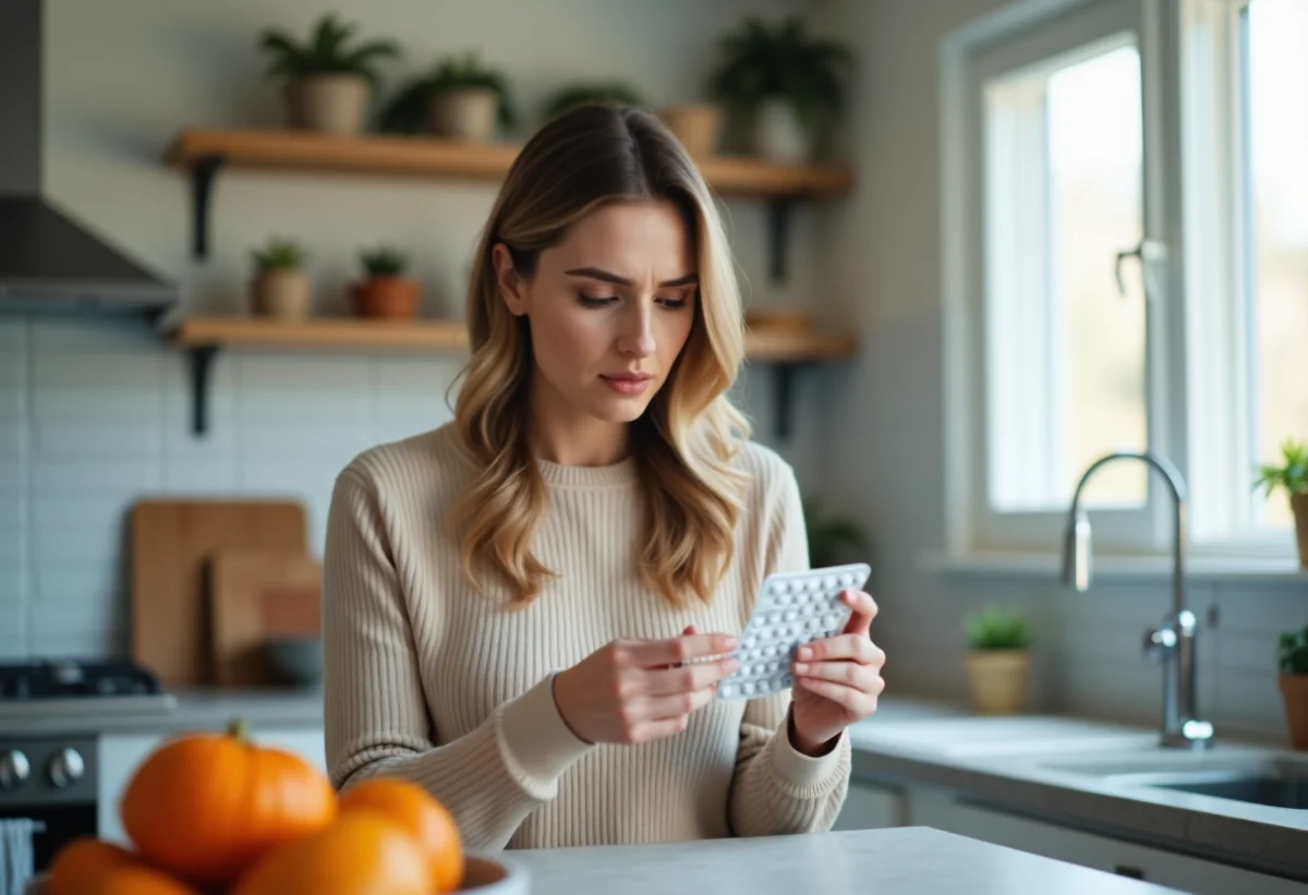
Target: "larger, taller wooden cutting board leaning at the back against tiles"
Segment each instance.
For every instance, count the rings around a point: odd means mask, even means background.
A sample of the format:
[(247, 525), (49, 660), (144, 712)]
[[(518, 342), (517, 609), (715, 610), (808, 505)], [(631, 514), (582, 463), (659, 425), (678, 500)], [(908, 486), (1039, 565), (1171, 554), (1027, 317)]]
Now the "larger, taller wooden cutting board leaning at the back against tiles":
[(132, 508), (132, 659), (165, 686), (213, 683), (205, 563), (228, 547), (307, 552), (298, 501), (145, 500)]

